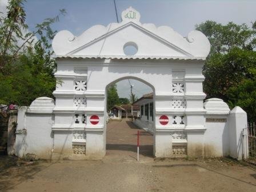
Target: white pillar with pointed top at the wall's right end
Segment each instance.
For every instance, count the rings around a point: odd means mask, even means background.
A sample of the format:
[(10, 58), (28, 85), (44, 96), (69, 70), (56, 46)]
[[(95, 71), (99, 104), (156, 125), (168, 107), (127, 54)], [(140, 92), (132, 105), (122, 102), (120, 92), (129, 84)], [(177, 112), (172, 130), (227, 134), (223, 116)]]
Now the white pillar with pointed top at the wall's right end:
[[(247, 139), (243, 139), (243, 131), (247, 126), (247, 114), (241, 107), (234, 107), (229, 115), (229, 140), (230, 140), (230, 156), (242, 160), (243, 151), (248, 154)], [(246, 137), (246, 135), (244, 136)], [(243, 143), (244, 142), (244, 143)]]

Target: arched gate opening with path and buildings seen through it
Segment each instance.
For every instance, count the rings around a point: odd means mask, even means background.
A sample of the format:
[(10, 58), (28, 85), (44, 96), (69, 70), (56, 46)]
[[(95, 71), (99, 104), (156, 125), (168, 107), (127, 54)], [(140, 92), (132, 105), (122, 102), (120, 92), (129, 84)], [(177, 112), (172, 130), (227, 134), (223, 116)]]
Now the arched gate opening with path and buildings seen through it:
[[(114, 96), (110, 90), (117, 90), (118, 94), (122, 95), (124, 92), (121, 89), (123, 85), (121, 87), (115, 85), (117, 85), (116, 83), (118, 82), (121, 83), (125, 81), (127, 81), (126, 88), (129, 90), (131, 88), (133, 90), (132, 94), (137, 94), (139, 97), (137, 97), (135, 101), (129, 98), (129, 103), (122, 103), (122, 98), (119, 100), (121, 102), (113, 103)], [(139, 83), (143, 83), (147, 89), (144, 89), (145, 91), (138, 90), (139, 88), (137, 88), (136, 85), (138, 86)], [(111, 95), (109, 95), (108, 92)], [(129, 76), (115, 79), (113, 82), (109, 83), (106, 86), (105, 93), (105, 158), (136, 159), (138, 131), (140, 158), (153, 157), (155, 129), (154, 86), (141, 78)], [(111, 99), (109, 97), (111, 97)], [(128, 97), (131, 97), (131, 94)]]

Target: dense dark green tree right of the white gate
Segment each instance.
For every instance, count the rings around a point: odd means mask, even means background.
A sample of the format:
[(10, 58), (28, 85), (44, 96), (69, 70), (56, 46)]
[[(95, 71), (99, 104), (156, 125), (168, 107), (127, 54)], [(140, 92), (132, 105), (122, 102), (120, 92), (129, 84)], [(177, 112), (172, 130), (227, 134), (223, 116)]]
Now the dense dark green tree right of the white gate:
[(241, 106), (255, 121), (256, 22), (252, 27), (233, 22), (206, 21), (197, 26), (209, 38), (211, 51), (203, 67), (207, 98), (217, 97), (230, 108)]

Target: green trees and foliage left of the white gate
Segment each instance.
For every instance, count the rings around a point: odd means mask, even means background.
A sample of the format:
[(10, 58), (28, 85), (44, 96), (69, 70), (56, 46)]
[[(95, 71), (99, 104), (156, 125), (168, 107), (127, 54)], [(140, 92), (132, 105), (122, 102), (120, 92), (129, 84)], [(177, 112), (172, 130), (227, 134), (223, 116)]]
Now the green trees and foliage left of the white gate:
[(56, 64), (49, 42), (57, 33), (50, 25), (59, 15), (29, 32), (23, 2), (10, 0), (7, 15), (0, 17), (0, 103), (7, 105), (30, 105), (37, 97), (51, 97), (55, 87)]

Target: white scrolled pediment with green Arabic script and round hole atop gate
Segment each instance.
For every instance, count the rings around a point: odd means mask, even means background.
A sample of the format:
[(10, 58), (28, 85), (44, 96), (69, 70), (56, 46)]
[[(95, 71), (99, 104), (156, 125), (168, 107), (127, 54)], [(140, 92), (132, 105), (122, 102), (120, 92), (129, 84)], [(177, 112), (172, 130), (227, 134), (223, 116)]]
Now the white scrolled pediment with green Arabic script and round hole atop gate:
[[(169, 26), (139, 22), (140, 14), (130, 7), (123, 11), (121, 23), (107, 27), (96, 25), (79, 37), (70, 31), (59, 31), (53, 39), (57, 57), (82, 58), (183, 58), (204, 59), (210, 51), (208, 39), (200, 31), (191, 31), (186, 38)], [(127, 56), (124, 46), (134, 45), (138, 51)]]

